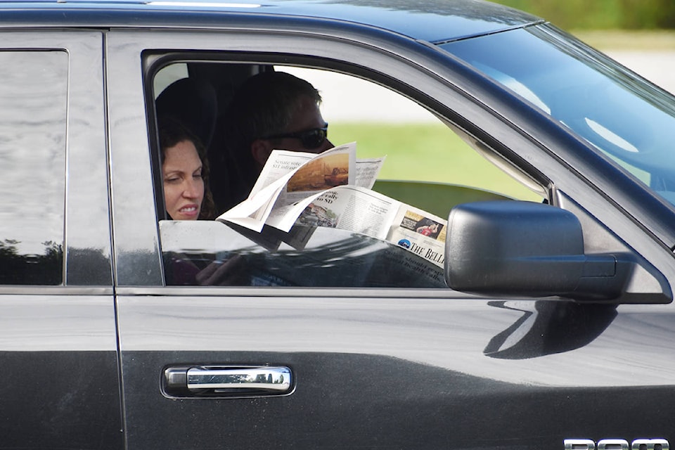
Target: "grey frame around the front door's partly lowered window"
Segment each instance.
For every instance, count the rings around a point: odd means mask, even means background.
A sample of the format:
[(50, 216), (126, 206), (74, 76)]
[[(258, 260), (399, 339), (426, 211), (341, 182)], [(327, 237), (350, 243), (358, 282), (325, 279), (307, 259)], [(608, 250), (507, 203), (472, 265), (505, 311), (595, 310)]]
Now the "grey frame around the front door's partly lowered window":
[[(349, 71), (350, 75), (356, 76), (378, 74), (378, 76), (371, 76), (369, 79), (380, 82), (390, 89), (424, 103), (435, 110), (438, 115), (467, 131), (470, 136), (475, 136), (488, 151), (489, 149), (494, 151), (496, 158), (510, 160), (515, 166), (531, 174), (533, 178), (539, 179), (551, 191), (553, 204), (570, 205), (570, 203), (574, 203), (581, 205), (580, 212), (584, 212), (584, 208), (589, 207), (593, 215), (605, 223), (612, 224), (612, 228), (618, 223), (617, 229), (622, 238), (627, 238), (626, 241), (629, 245), (637, 244), (638, 247), (642, 248), (659, 248), (659, 251), (662, 252), (663, 249), (658, 243), (646, 239), (646, 236), (640, 233), (634, 233), (636, 224), (626, 221), (626, 216), (622, 211), (613, 206), (609, 208), (598, 207), (598, 205), (606, 205), (607, 199), (604, 195), (599, 193), (594, 186), (579, 179), (577, 173), (570, 171), (570, 168), (559, 158), (556, 158), (551, 150), (544, 150), (541, 144), (534, 140), (531, 135), (515, 127), (511, 120), (507, 120), (503, 116), (503, 113), (508, 112), (510, 108), (515, 110), (512, 111), (515, 117), (519, 117), (523, 113), (518, 108), (527, 109), (529, 108), (527, 105), (512, 105), (509, 102), (513, 101), (513, 98), (507, 98), (506, 96), (509, 94), (505, 91), (495, 91), (497, 88), (493, 85), (480, 86), (480, 83), (477, 84), (473, 79), (477, 75), (473, 72), (468, 74), (465, 65), (458, 63), (449, 54), (436, 52), (435, 49), (428, 49), (423, 44), (418, 43), (406, 42), (401, 47), (394, 45), (396, 44), (394, 39), (392, 41), (377, 41), (378, 46), (375, 46), (368, 43), (367, 32), (364, 32), (366, 34), (364, 37), (353, 32), (344, 32), (338, 36), (334, 30), (325, 30), (321, 35), (300, 29), (294, 32), (255, 31), (254, 33), (252, 30), (220, 30), (219, 32), (155, 30), (155, 32), (149, 34), (134, 32), (134, 30), (120, 30), (111, 33), (110, 49), (120, 53), (110, 60), (110, 64), (116, 67), (119, 64), (120, 68), (135, 73), (135, 77), (137, 77), (136, 79), (130, 79), (130, 86), (133, 89), (129, 89), (129, 84), (124, 86), (126, 93), (122, 92), (122, 86), (119, 84), (120, 79), (117, 80), (117, 87), (111, 89), (111, 94), (115, 91), (115, 95), (111, 95), (111, 110), (114, 109), (115, 105), (120, 105), (122, 101), (127, 102), (127, 108), (133, 107), (138, 111), (146, 108), (146, 105), (141, 104), (142, 102), (139, 100), (147, 92), (145, 90), (147, 86), (143, 86), (140, 76), (141, 56), (144, 51), (171, 49), (175, 52), (194, 52), (193, 55), (195, 56), (200, 51), (208, 53), (223, 52), (227, 55), (237, 55), (240, 60), (258, 60), (259, 56), (264, 55), (267, 57), (266, 62), (269, 63), (278, 60), (288, 62), (289, 55), (304, 55), (297, 56), (293, 61), (297, 63), (304, 61), (306, 65), (311, 65), (311, 62), (314, 61), (314, 65), (316, 65), (316, 61), (321, 60), (322, 64), (319, 68), (339, 71), (348, 67), (352, 69)], [(338, 37), (339, 39), (335, 39)], [(411, 46), (414, 48), (411, 49)], [(257, 57), (252, 58), (251, 55)], [(378, 68), (378, 70), (374, 71), (359, 66), (358, 61), (363, 60), (368, 60), (369, 67)], [(130, 64), (131, 61), (134, 62), (133, 65)], [(356, 68), (359, 68), (361, 72)], [(148, 65), (143, 65), (142, 73), (147, 76)], [(476, 79), (480, 81), (480, 77)], [(392, 82), (392, 80), (395, 81)], [(420, 83), (423, 84), (420, 86)], [(486, 94), (486, 97), (477, 101), (475, 96), (481, 92)], [(454, 109), (450, 110), (444, 105), (453, 105)], [(494, 108), (495, 105), (500, 106), (501, 110)], [(531, 111), (527, 109), (525, 114), (531, 114)], [(113, 116), (118, 117), (117, 115)], [(111, 122), (115, 123), (115, 117), (111, 117), (113, 119)], [(135, 271), (127, 268), (128, 270), (125, 270), (124, 274), (120, 274), (118, 270), (117, 279), (122, 286), (145, 285), (149, 287), (163, 285), (157, 217), (148, 220), (150, 215), (156, 215), (149, 213), (149, 211), (155, 210), (150, 158), (141, 157), (143, 152), (145, 155), (150, 155), (147, 136), (152, 136), (152, 132), (148, 131), (147, 119), (148, 117), (141, 117), (141, 115), (136, 114), (133, 121), (127, 120), (124, 122), (124, 127), (120, 126), (113, 129), (111, 136), (113, 153), (120, 151), (124, 153), (126, 158), (133, 152), (136, 157), (130, 159), (136, 161), (135, 172), (137, 173), (139, 169), (147, 171), (142, 180), (146, 186), (146, 193), (139, 193), (141, 198), (137, 199), (136, 202), (139, 205), (141, 203), (144, 205), (143, 231), (140, 234), (138, 230), (135, 231), (136, 240), (143, 236), (145, 244), (140, 247), (138, 245), (132, 246), (133, 248), (123, 244), (121, 240), (124, 240), (124, 236), (127, 236), (130, 232), (127, 226), (122, 228), (117, 226), (115, 233), (116, 248), (122, 250), (117, 253), (118, 266), (122, 258), (126, 260), (125, 254), (130, 254), (133, 251), (138, 261), (143, 260), (145, 269), (141, 278), (138, 276), (138, 274), (141, 274), (141, 266), (136, 265)], [(568, 136), (558, 136), (555, 133), (548, 135), (546, 131), (538, 131), (537, 136), (546, 138), (544, 143), (547, 143), (546, 140), (548, 140), (548, 148), (555, 151), (560, 149), (565, 151), (562, 147), (563, 143), (570, 140)], [(145, 143), (141, 143), (143, 137), (146, 137)], [(150, 137), (150, 139), (153, 138)], [(516, 154), (515, 150), (512, 149), (518, 149), (518, 153)], [(534, 169), (534, 167), (538, 169)], [(120, 169), (120, 167), (113, 167), (113, 173)], [(555, 186), (553, 181), (549, 181), (553, 179), (555, 179)], [(138, 184), (136, 187), (138, 187)], [(560, 191), (560, 187), (564, 187), (564, 192)], [(119, 184), (114, 184), (113, 189), (114, 191), (124, 191), (124, 187)], [(153, 193), (153, 195), (148, 195), (148, 193)], [(115, 224), (122, 224), (125, 216), (139, 218), (136, 214), (127, 214), (125, 211), (127, 207), (129, 205), (118, 209), (117, 205), (114, 205)], [(586, 213), (584, 212), (584, 214)], [(139, 224), (138, 221), (134, 225), (137, 224)], [(632, 232), (624, 233), (628, 230), (632, 230)], [(657, 255), (660, 255), (661, 263), (664, 263), (664, 255), (662, 253)], [(152, 269), (148, 270), (146, 264), (150, 263), (152, 263)], [(658, 265), (661, 266), (661, 264)], [(134, 276), (129, 276), (130, 273)], [(207, 295), (207, 292), (211, 292), (212, 289), (214, 288), (207, 288), (198, 292)], [(217, 289), (219, 295), (237, 295), (241, 292), (250, 293), (250, 290), (259, 288)], [(335, 295), (334, 288), (331, 288), (330, 291), (331, 295)], [(163, 290), (162, 292), (170, 293), (173, 291)], [(185, 293), (184, 290), (180, 289), (177, 292)], [(312, 295), (325, 294), (321, 294), (321, 289), (313, 289), (311, 292)], [(426, 291), (423, 294), (419, 290), (416, 292), (420, 295), (433, 295)], [(443, 291), (443, 293), (437, 293), (436, 295), (447, 295), (448, 293), (449, 291)], [(266, 290), (265, 295), (269, 294), (269, 290)]]

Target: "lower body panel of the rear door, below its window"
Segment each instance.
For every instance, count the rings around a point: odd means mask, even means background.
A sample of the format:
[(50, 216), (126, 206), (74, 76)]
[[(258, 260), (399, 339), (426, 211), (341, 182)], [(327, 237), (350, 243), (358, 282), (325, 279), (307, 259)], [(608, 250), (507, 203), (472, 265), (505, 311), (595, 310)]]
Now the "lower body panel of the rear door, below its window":
[(112, 295), (0, 295), (4, 445), (121, 449)]

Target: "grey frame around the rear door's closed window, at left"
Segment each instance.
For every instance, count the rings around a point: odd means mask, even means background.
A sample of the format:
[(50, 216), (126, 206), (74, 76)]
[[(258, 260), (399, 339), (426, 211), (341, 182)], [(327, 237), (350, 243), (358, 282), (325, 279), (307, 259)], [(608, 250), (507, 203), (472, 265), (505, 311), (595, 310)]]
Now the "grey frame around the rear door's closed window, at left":
[[(113, 285), (108, 197), (108, 153), (103, 106), (101, 32), (91, 30), (7, 30), (0, 51), (63, 51), (68, 56), (65, 111), (63, 282), (54, 285), (0, 286), (16, 293), (45, 293), (77, 286), (101, 292)], [(105, 290), (105, 289), (104, 289)], [(77, 291), (77, 289), (75, 289)]]

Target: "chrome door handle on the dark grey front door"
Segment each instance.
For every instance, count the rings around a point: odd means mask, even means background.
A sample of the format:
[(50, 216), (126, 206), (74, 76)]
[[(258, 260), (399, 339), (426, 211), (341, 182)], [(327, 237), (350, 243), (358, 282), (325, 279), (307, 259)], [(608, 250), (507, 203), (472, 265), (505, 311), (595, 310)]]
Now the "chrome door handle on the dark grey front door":
[(292, 390), (293, 374), (285, 366), (180, 366), (165, 368), (163, 384), (172, 397), (278, 395)]

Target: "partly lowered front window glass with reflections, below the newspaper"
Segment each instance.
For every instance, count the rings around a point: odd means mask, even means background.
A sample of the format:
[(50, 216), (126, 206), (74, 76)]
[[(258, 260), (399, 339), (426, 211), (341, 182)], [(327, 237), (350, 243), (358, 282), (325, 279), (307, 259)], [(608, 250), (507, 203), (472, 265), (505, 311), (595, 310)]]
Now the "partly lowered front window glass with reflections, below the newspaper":
[[(281, 243), (302, 235), (304, 248)], [(384, 240), (339, 229), (160, 221), (167, 285), (447, 288), (441, 267)], [(206, 274), (207, 276), (203, 276)]]

